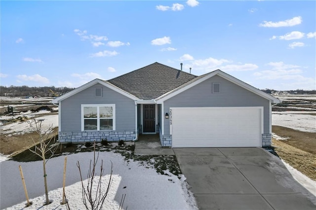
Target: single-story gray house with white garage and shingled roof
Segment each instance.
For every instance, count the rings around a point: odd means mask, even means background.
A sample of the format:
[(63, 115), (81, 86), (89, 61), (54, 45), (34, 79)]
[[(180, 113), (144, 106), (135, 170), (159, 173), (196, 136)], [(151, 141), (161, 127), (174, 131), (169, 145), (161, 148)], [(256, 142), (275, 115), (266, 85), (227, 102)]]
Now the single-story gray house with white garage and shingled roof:
[(161, 146), (262, 147), (271, 145), (271, 106), (279, 100), (221, 70), (196, 76), (156, 62), (94, 79), (52, 103), (60, 142), (159, 134)]

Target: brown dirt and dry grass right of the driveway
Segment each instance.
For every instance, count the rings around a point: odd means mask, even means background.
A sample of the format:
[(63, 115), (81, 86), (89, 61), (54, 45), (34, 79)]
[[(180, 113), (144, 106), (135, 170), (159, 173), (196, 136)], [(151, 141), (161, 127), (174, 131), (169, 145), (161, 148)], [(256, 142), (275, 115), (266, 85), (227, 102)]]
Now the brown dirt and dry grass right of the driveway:
[(277, 155), (302, 174), (316, 180), (316, 133), (273, 126), (272, 132), (287, 140), (272, 140)]

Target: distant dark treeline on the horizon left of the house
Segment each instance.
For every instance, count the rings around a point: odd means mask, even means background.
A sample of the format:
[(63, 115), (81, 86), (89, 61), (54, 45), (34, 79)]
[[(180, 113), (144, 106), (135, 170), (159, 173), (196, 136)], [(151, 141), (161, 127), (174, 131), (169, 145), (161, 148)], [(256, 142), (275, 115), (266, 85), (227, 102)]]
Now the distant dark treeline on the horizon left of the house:
[(75, 88), (69, 87), (29, 87), (26, 85), (23, 86), (13, 86), (5, 87), (0, 86), (0, 96), (24, 96), (24, 97), (56, 97), (61, 96), (65, 93), (68, 93)]

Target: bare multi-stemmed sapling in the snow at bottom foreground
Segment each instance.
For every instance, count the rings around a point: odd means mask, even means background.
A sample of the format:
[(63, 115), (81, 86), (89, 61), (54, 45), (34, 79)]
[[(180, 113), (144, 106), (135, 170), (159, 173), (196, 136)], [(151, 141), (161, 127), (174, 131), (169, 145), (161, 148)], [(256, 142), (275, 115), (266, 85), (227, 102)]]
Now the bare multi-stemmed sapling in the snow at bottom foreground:
[(102, 175), (104, 173), (103, 168), (103, 160), (101, 160), (101, 166), (100, 166), (100, 175), (99, 177), (96, 177), (96, 165), (99, 159), (99, 153), (95, 154), (95, 142), (93, 146), (93, 162), (90, 160), (90, 167), (87, 174), (87, 184), (84, 186), (82, 175), (81, 175), (81, 169), (79, 161), (77, 162), (77, 167), (79, 169), (80, 179), (81, 179), (81, 185), (82, 185), (82, 200), (85, 208), (87, 210), (102, 210), (103, 203), (105, 201), (105, 198), (108, 195), (108, 192), (110, 191), (110, 187), (112, 184), (112, 173), (113, 173), (113, 165), (111, 161), (111, 173), (110, 173), (110, 179), (107, 186), (105, 186), (105, 189), (103, 189), (102, 186)]

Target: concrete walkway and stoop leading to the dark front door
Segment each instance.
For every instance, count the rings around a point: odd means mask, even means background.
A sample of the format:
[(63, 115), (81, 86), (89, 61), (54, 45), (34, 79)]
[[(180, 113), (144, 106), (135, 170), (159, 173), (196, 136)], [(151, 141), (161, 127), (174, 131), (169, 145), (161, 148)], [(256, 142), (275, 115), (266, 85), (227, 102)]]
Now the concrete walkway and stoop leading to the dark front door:
[(159, 135), (139, 135), (135, 141), (135, 155), (175, 155), (171, 148), (161, 147)]

